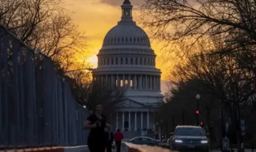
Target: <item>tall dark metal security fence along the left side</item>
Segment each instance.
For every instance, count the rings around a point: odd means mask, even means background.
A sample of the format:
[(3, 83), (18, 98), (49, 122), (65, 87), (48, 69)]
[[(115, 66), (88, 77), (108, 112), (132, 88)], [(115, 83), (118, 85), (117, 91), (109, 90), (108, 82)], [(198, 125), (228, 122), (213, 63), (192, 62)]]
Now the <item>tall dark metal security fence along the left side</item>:
[(50, 58), (0, 26), (0, 146), (86, 145), (78, 105)]

